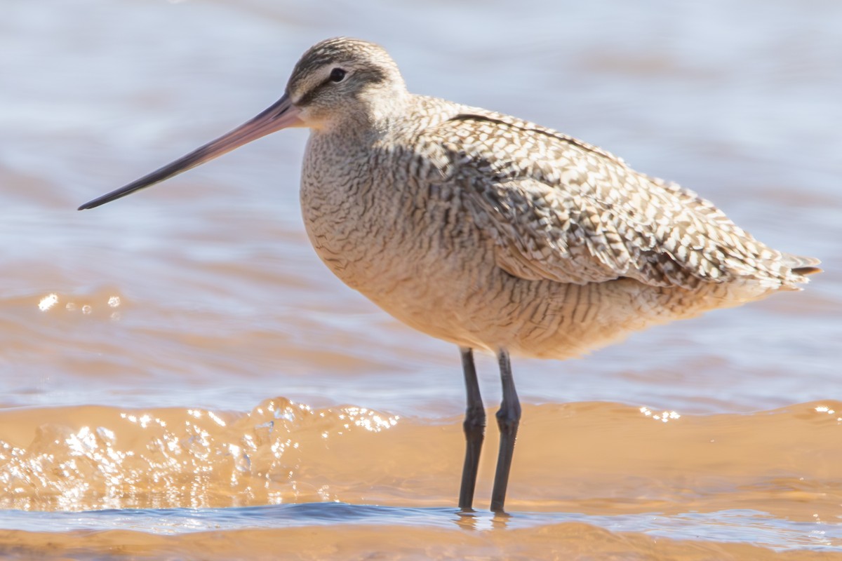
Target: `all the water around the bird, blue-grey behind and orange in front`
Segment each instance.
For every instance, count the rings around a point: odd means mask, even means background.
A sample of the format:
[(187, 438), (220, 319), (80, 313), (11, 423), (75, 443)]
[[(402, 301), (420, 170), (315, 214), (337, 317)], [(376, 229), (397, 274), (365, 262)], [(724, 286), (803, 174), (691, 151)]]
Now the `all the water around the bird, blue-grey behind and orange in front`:
[[(821, 0), (5, 7), (0, 554), (842, 557), (839, 29)], [(413, 91), (694, 188), (825, 273), (585, 360), (515, 360), (511, 516), (483, 511), (494, 430), (460, 515), (458, 352), (318, 262), (306, 133), (75, 211), (256, 114), (336, 34), (381, 42)]]

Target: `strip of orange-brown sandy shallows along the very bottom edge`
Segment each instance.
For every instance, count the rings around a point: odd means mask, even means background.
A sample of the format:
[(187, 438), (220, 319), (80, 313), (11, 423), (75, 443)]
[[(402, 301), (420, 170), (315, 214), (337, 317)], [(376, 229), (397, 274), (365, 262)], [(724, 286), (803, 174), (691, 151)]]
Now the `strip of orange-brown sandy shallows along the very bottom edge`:
[(681, 559), (685, 561), (842, 558), (809, 551), (773, 553), (742, 543), (690, 542), (612, 533), (568, 523), (511, 531), (406, 527), (308, 527), (179, 536), (141, 532), (0, 532), (4, 558), (201, 559)]

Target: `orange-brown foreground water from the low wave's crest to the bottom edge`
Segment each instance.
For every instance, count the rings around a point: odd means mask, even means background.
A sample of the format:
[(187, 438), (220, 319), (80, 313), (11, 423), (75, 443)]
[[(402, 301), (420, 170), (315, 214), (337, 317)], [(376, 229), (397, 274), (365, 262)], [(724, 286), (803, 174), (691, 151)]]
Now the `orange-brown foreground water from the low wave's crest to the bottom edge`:
[[(747, 415), (526, 406), (511, 516), (493, 517), (456, 513), (461, 419), (312, 410), (283, 398), (250, 413), (0, 410), (0, 505), (13, 510), (0, 522), (12, 528), (0, 533), (0, 553), (834, 558), (842, 552), (839, 411), (838, 402)], [(490, 427), (478, 511), (488, 507), (495, 433)]]

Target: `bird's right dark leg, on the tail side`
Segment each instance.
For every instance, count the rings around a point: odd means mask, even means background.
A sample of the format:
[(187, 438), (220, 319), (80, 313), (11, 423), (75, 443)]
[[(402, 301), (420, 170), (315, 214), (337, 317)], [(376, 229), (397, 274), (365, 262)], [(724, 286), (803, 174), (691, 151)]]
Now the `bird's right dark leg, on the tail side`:
[(503, 401), (497, 412), (497, 426), (500, 429), (500, 453), (497, 457), (497, 473), (494, 474), (494, 488), (491, 493), (491, 510), (503, 512), (506, 500), (506, 486), (509, 484), (509, 468), (514, 456), (514, 439), (518, 436), (520, 424), (520, 401), (514, 390), (512, 365), (509, 353), (501, 350), (497, 355), (500, 363), (500, 380), (503, 382)]

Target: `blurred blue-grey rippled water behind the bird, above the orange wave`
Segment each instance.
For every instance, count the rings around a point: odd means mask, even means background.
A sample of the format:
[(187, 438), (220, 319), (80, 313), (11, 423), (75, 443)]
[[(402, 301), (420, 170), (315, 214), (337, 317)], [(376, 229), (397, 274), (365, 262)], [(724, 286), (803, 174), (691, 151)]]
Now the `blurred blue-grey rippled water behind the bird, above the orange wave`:
[[(456, 347), (344, 287), (306, 239), (306, 130), (76, 210), (257, 114), (303, 51), (335, 35), (384, 45), (415, 93), (602, 146), (770, 246), (823, 261), (802, 293), (584, 360), (516, 359), (525, 405), (714, 418), (839, 399), (842, 3), (40, 0), (6, 3), (0, 18), (7, 426), (21, 408), (65, 407), (84, 425), (93, 405), (245, 415), (283, 397), (450, 426), (461, 446)], [(492, 406), (493, 358), (479, 368)]]

